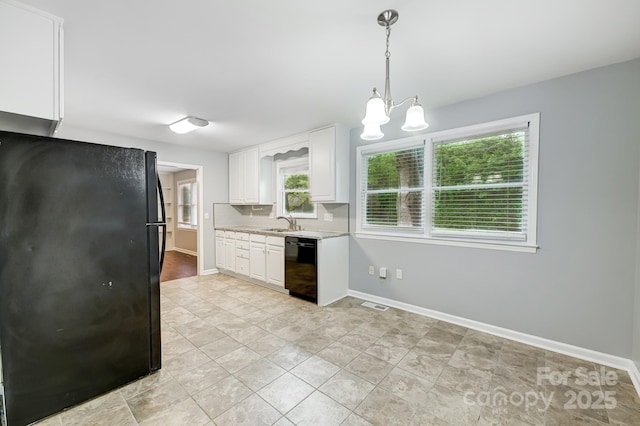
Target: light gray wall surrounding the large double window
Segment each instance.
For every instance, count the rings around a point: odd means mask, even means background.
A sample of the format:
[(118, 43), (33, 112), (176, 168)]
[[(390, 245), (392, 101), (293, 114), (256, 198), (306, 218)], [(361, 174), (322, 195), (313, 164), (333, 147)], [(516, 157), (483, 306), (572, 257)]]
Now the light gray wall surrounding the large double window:
[[(639, 76), (637, 59), (427, 111), (429, 131), (540, 112), (540, 250), (352, 236), (350, 289), (630, 358)], [(383, 127), (387, 140), (406, 137), (401, 115)], [(360, 132), (351, 131), (354, 159), (364, 144)], [(355, 188), (355, 160), (352, 165)], [(352, 191), (353, 206), (356, 196)], [(404, 279), (369, 276), (368, 265), (402, 268)]]

